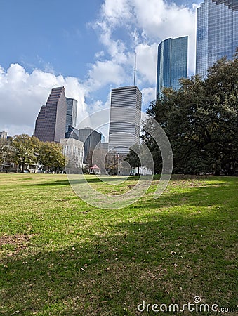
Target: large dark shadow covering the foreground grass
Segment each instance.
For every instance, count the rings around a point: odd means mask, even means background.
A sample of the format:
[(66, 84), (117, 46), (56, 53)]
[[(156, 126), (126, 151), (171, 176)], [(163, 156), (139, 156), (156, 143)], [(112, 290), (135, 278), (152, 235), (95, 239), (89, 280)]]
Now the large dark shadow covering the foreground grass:
[(62, 250), (38, 249), (35, 237), (22, 256), (4, 258), (1, 315), (136, 315), (143, 300), (183, 305), (195, 295), (235, 306), (236, 228), (225, 206), (119, 220), (110, 230), (75, 230), (77, 242)]

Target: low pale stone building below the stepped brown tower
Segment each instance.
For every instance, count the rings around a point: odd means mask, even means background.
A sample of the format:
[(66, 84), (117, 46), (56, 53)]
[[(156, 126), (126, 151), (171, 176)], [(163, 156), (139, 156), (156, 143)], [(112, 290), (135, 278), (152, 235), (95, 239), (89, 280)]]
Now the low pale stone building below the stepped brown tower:
[(67, 164), (81, 168), (84, 160), (84, 143), (74, 138), (61, 138), (62, 154), (67, 157)]

